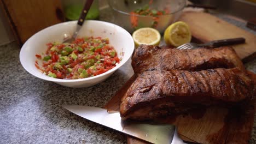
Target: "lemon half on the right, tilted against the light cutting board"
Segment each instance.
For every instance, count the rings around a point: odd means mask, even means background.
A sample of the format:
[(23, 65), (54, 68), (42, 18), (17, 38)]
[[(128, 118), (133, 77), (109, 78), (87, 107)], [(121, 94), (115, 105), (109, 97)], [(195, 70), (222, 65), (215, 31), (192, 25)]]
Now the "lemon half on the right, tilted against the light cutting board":
[(187, 23), (178, 21), (168, 26), (164, 33), (165, 43), (173, 46), (180, 46), (189, 43), (191, 32)]

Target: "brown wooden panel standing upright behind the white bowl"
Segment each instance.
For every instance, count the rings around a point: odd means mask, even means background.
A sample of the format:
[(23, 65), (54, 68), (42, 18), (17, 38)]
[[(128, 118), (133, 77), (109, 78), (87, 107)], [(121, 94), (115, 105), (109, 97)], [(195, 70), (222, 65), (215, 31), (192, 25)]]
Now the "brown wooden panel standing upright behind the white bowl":
[(0, 3), (19, 44), (65, 19), (61, 0), (0, 0)]

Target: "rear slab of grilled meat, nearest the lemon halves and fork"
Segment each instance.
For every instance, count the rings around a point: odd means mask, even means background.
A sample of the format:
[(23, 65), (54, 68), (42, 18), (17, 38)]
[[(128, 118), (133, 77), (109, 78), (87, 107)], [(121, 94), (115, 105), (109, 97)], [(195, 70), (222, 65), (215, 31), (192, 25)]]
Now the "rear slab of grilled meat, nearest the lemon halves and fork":
[(231, 47), (177, 50), (140, 45), (132, 56), (132, 68), (135, 74), (155, 69), (198, 71), (234, 67), (245, 69), (235, 50)]

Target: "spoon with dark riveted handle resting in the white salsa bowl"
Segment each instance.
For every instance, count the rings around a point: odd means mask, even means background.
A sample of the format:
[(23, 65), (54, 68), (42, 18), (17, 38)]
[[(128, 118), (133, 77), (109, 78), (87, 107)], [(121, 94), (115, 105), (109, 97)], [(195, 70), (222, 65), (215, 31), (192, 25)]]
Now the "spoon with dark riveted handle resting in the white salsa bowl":
[(94, 0), (87, 0), (85, 5), (84, 5), (84, 8), (80, 14), (80, 17), (77, 21), (77, 28), (75, 29), (75, 32), (74, 34), (72, 35), (72, 37), (70, 37), (70, 35), (68, 34), (64, 34), (64, 39), (63, 39), (63, 43), (71, 43), (72, 41), (75, 40), (75, 38), (77, 38), (77, 34), (80, 30), (80, 28), (83, 26), (83, 23), (84, 23), (84, 20), (85, 20), (85, 17), (91, 7), (91, 4), (92, 2), (94, 2)]

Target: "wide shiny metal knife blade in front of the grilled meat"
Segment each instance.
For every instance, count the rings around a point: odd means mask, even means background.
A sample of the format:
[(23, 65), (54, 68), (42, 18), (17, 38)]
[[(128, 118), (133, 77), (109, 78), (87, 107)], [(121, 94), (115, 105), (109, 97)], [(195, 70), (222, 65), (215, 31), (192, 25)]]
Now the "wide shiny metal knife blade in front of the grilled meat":
[(81, 105), (63, 105), (63, 107), (80, 117), (88, 119), (89, 121), (151, 143), (183, 143), (183, 141), (178, 137), (177, 130), (174, 125), (126, 123), (121, 121), (118, 111), (108, 112), (106, 109)]

